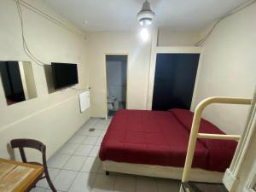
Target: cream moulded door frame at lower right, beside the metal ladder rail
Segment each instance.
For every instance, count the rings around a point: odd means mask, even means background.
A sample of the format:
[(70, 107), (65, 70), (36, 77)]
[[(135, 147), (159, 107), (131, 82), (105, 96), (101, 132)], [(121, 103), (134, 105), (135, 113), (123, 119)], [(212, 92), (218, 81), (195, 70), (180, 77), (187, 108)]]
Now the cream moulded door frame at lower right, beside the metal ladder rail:
[[(247, 115), (247, 123), (241, 135), (241, 140), (236, 147), (236, 153), (230, 167), (224, 173), (223, 183), (230, 192), (242, 189), (243, 192), (255, 192), (256, 161), (255, 145), (256, 137), (256, 87), (253, 94), (253, 102)], [(253, 162), (253, 164), (252, 164)]]

